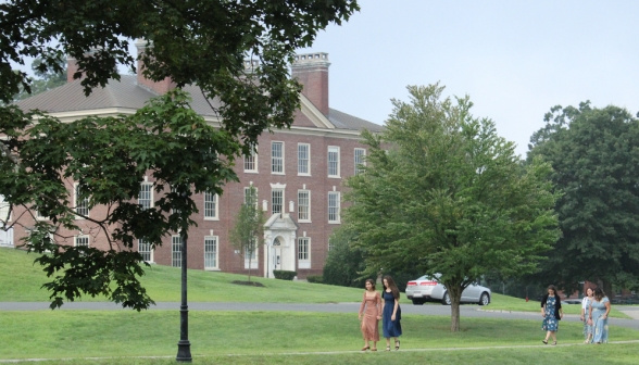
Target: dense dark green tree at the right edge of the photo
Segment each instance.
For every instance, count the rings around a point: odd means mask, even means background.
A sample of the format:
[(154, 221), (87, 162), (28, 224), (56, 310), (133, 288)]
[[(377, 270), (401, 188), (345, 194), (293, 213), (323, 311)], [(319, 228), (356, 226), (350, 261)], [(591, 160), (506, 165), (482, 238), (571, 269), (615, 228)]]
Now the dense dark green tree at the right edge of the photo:
[(625, 109), (554, 106), (531, 137), (528, 160), (543, 158), (563, 196), (556, 202), (562, 237), (539, 280), (573, 291), (589, 280), (639, 286), (639, 121)]

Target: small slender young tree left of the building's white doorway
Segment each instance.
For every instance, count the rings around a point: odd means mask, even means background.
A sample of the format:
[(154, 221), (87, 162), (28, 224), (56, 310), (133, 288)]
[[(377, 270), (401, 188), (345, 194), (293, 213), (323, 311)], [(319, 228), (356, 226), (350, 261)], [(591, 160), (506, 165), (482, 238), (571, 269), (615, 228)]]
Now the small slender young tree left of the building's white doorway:
[[(241, 257), (253, 257), (260, 246), (264, 244), (264, 211), (258, 206), (258, 191), (250, 187), (230, 229), (230, 243)], [(249, 265), (249, 281), (251, 281), (251, 265)]]

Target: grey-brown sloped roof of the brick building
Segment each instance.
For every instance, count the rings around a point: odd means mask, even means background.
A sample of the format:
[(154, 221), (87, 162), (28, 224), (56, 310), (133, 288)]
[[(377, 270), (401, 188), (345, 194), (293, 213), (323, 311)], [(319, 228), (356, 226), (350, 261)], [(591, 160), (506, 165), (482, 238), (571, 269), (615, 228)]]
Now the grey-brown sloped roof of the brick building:
[[(213, 108), (218, 108), (217, 100), (206, 100), (197, 86), (186, 86), (185, 91), (192, 98), (191, 108), (200, 115), (217, 116)], [(99, 110), (109, 108), (124, 108), (138, 110), (145, 106), (149, 99), (158, 93), (140, 86), (136, 75), (121, 75), (120, 80), (112, 79), (103, 88), (95, 88), (88, 97), (84, 93), (80, 80), (76, 79), (58, 88), (45, 91), (34, 97), (20, 100), (15, 104), (24, 110), (40, 110), (46, 113), (74, 112)], [(213, 106), (213, 108), (212, 108)], [(329, 110), (328, 119), (339, 129), (379, 131), (383, 126), (362, 118)]]

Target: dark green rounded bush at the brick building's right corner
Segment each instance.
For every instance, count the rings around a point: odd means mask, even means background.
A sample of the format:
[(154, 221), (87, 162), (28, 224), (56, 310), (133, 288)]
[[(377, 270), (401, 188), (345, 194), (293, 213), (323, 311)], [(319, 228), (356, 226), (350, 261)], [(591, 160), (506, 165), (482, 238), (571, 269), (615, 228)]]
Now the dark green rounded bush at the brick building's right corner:
[(330, 251), (324, 263), (324, 284), (364, 288), (367, 277), (362, 277), (361, 273), (366, 265), (362, 257), (362, 250), (351, 244), (355, 237), (356, 234), (346, 225), (333, 231), (329, 238)]

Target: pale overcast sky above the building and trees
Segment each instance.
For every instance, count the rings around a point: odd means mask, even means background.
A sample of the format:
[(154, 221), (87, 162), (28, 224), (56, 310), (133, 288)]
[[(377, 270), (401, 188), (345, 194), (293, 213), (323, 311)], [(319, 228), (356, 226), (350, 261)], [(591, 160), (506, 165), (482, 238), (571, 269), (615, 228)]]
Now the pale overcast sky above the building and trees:
[(639, 111), (639, 1), (360, 0), (322, 32), (330, 108), (384, 124), (406, 85), (469, 95), (525, 155), (551, 106)]

